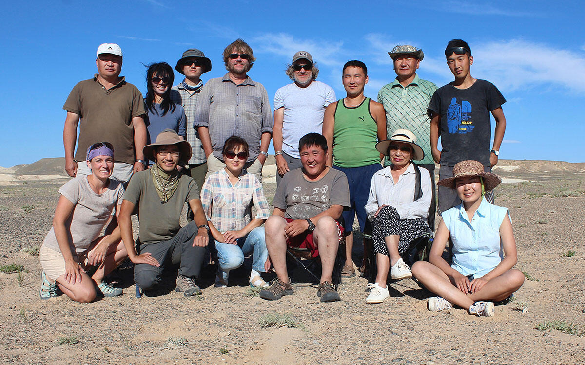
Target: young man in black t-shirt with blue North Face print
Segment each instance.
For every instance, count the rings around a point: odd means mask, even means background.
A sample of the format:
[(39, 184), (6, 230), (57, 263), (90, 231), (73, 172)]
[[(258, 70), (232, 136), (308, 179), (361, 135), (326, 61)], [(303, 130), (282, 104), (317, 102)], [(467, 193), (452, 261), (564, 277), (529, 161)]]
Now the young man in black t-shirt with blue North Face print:
[[(437, 89), (428, 107), (431, 114), (431, 152), (435, 162), (441, 165), (439, 179), (453, 176), (453, 166), (467, 159), (481, 162), (485, 171), (490, 172), (498, 163), (504, 139), (506, 119), (501, 105), (506, 100), (491, 82), (472, 77), (472, 51), (465, 41), (449, 41), (445, 57), (455, 81)], [(495, 119), (491, 150), (490, 112)], [(439, 136), (441, 151), (437, 148)], [(439, 186), (437, 195), (441, 213), (461, 203), (453, 189)]]

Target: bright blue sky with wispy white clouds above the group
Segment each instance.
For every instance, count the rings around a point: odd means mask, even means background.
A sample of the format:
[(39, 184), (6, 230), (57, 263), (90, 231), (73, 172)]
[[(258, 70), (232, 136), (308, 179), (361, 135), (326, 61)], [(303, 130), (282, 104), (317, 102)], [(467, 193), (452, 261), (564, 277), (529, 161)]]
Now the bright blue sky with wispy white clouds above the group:
[(445, 45), (464, 39), (473, 77), (508, 100), (500, 158), (585, 161), (582, 1), (20, 1), (4, 14), (0, 166), (63, 156), (63, 103), (96, 72), (99, 44), (120, 44), (122, 75), (144, 93), (142, 63), (174, 66), (185, 49), (199, 48), (213, 65), (207, 81), (225, 74), (222, 50), (238, 37), (252, 46), (249, 75), (270, 99), (290, 82), (284, 68), (298, 50), (313, 55), (318, 79), (338, 98), (342, 65), (364, 61), (366, 96), (375, 99), (395, 77), (387, 54), (395, 45), (421, 47), (419, 76), (441, 86), (452, 81)]

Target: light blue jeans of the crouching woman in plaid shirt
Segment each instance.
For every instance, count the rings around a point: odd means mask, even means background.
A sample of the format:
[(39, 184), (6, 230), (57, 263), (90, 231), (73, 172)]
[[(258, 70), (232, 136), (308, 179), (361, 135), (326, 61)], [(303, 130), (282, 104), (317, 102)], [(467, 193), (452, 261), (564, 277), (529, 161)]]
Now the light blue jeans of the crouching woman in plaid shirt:
[(237, 245), (224, 244), (215, 241), (218, 251), (219, 270), (223, 280), (228, 280), (229, 271), (237, 269), (244, 263), (244, 256), (252, 252), (252, 269), (257, 272), (265, 272), (264, 263), (268, 258), (264, 227), (256, 227), (249, 234), (238, 239)]

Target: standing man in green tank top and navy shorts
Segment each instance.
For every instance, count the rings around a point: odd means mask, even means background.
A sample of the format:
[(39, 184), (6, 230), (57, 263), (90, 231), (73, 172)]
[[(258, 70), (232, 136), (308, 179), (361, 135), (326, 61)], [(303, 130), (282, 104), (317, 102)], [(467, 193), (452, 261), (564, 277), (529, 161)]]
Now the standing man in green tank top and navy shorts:
[(357, 214), (362, 232), (369, 224), (364, 206), (371, 177), (382, 168), (383, 155), (376, 150), (376, 143), (386, 139), (386, 114), (383, 105), (364, 96), (368, 77), (362, 61), (346, 62), (342, 81), (347, 96), (325, 109), (323, 135), (332, 151), (329, 166), (345, 173), (349, 184), (350, 208), (343, 211), (346, 259), (342, 276), (353, 277), (353, 220)]

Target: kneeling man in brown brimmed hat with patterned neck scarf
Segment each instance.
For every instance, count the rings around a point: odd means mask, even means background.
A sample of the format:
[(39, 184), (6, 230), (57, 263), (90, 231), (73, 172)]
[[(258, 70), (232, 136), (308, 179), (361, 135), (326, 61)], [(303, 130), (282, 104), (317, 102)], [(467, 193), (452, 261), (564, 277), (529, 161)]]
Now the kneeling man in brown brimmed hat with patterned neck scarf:
[[(180, 264), (176, 291), (183, 292), (185, 297), (201, 294), (196, 280), (209, 242), (209, 227), (197, 184), (177, 169), (181, 159), (191, 157), (191, 146), (176, 131), (167, 129), (154, 143), (144, 146), (143, 152), (154, 164), (130, 180), (119, 217), (122, 241), (128, 258), (135, 264), (134, 281), (141, 289), (153, 288), (160, 283), (164, 266)], [(185, 203), (191, 207), (194, 219), (181, 228)], [(138, 252), (130, 221), (137, 205)]]

